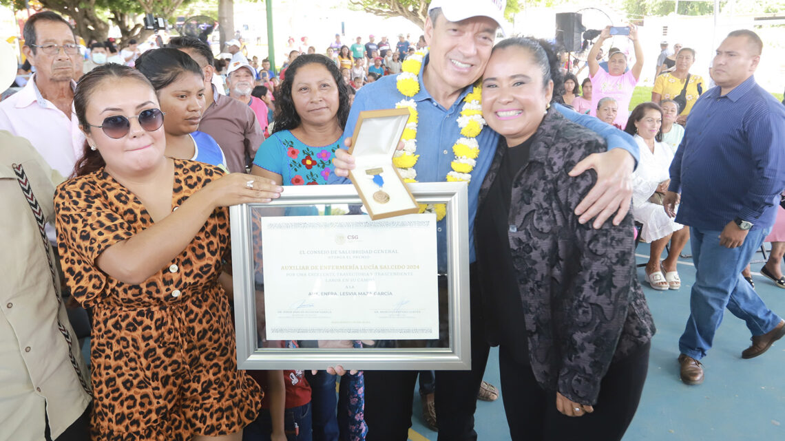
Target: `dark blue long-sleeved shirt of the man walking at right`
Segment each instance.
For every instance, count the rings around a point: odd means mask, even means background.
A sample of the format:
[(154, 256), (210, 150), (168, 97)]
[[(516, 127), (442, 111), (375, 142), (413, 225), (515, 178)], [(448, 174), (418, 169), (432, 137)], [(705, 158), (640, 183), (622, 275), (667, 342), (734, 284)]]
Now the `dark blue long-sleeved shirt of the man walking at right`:
[(714, 87), (690, 111), (670, 164), (680, 224), (721, 231), (736, 217), (768, 228), (785, 188), (785, 107), (754, 76), (725, 95)]

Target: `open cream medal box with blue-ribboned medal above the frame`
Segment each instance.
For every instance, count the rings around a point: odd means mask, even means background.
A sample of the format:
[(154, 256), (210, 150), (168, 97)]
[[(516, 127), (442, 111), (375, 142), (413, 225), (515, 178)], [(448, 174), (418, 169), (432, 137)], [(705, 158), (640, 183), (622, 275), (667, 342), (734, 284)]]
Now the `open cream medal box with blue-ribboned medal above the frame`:
[(362, 111), (357, 118), (349, 148), (356, 168), (349, 179), (373, 221), (418, 212), (417, 201), (392, 165), (408, 119), (405, 108)]

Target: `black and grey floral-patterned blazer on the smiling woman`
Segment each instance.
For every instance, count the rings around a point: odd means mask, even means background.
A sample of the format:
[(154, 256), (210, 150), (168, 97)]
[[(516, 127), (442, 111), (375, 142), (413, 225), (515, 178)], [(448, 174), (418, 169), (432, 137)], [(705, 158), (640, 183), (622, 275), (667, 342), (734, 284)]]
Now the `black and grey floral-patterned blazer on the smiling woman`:
[[(502, 140), (480, 188), (480, 206), (504, 148)], [(655, 333), (636, 275), (632, 216), (618, 227), (608, 221), (595, 230), (579, 224), (574, 213), (597, 177), (593, 170), (579, 177), (567, 173), (586, 155), (605, 150), (596, 133), (548, 111), (528, 166), (513, 180), (507, 233), (531, 369), (543, 388), (592, 405), (612, 360)], [(494, 312), (488, 313), (492, 320)]]

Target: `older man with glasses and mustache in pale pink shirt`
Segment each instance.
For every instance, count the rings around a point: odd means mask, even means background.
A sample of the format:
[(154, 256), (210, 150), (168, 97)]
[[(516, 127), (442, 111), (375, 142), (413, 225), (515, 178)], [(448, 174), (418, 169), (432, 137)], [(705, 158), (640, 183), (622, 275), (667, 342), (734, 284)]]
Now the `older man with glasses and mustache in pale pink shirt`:
[(79, 46), (71, 25), (53, 12), (31, 16), (23, 32), (24, 55), (35, 74), (0, 103), (0, 129), (27, 138), (50, 167), (68, 177), (85, 144), (72, 116), (73, 78), (82, 68)]

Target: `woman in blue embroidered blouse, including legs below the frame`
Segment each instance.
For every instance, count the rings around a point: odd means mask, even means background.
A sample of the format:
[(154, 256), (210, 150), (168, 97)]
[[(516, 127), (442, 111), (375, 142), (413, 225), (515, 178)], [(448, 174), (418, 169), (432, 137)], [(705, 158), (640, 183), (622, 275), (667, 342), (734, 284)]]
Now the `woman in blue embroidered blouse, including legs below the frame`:
[[(251, 174), (283, 185), (327, 184), (351, 107), (341, 71), (327, 56), (298, 56), (275, 97), (276, 124), (259, 147)], [(332, 432), (338, 427), (341, 439), (365, 439), (363, 374), (341, 377), (340, 403), (335, 399), (334, 375), (319, 371), (306, 377), (311, 385), (313, 432), (327, 437), (337, 435)]]

